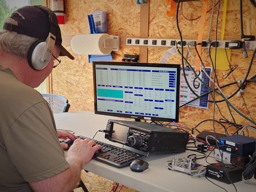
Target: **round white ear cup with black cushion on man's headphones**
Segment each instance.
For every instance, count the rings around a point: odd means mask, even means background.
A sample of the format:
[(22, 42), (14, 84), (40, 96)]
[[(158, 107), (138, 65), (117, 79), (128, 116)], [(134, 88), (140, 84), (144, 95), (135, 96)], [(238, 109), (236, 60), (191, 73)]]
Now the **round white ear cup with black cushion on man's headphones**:
[(27, 52), (27, 62), (34, 70), (42, 70), (48, 63), (41, 63), (41, 58), (46, 49), (46, 42), (38, 39), (34, 41)]

